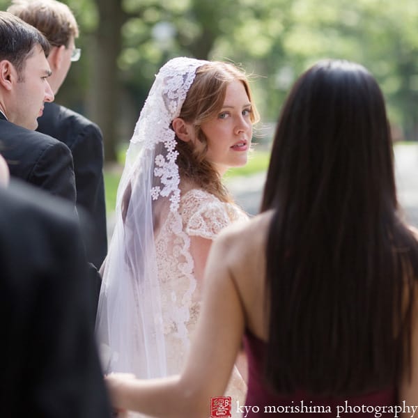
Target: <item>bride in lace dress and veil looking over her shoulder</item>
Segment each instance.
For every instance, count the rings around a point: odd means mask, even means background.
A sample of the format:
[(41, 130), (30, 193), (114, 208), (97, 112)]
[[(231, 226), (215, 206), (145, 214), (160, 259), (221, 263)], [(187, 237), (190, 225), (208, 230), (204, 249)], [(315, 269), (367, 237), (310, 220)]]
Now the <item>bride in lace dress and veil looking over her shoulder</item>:
[[(221, 179), (246, 164), (256, 121), (234, 65), (183, 57), (160, 69), (127, 150), (102, 266), (96, 335), (105, 372), (155, 378), (183, 368), (212, 240), (247, 219)], [(226, 396), (243, 403), (245, 391), (235, 368)]]

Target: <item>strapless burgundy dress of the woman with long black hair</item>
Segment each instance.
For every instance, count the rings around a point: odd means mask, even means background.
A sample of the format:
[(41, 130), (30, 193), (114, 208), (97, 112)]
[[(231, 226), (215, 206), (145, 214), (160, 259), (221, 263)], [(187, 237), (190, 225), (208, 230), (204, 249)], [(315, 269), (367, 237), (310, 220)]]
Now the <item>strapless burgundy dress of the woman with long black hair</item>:
[[(242, 417), (268, 417), (284, 414), (311, 415), (315, 417), (394, 417), (396, 389), (389, 387), (380, 392), (373, 392), (350, 398), (319, 398), (297, 391), (291, 395), (272, 393), (263, 382), (263, 357), (265, 343), (250, 332), (246, 332), (245, 351), (248, 358), (248, 392)], [(238, 405), (236, 405), (238, 408)], [(235, 407), (235, 405), (234, 405)], [(383, 409), (385, 407), (385, 409)], [(292, 413), (292, 415), (288, 415)], [(273, 414), (273, 415), (272, 415)], [(380, 415), (381, 414), (381, 415)], [(401, 414), (398, 412), (397, 416)]]

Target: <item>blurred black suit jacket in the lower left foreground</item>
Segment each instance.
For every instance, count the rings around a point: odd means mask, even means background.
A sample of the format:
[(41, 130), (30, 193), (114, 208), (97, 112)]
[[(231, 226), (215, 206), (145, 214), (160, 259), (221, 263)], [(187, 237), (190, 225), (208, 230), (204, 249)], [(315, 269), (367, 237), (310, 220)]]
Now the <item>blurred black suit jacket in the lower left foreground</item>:
[(107, 418), (72, 206), (0, 189), (1, 417)]

